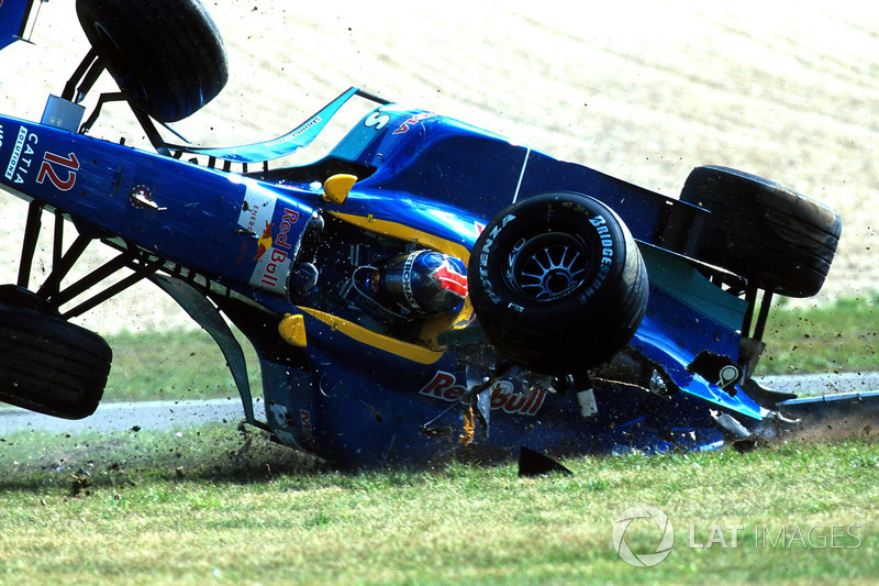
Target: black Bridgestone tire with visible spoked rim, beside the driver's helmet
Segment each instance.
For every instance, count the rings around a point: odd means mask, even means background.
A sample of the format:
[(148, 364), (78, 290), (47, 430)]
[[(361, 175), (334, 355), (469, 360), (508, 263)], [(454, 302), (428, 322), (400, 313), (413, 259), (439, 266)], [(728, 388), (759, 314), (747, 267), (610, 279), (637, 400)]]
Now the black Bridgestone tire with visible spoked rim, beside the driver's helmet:
[(579, 194), (545, 194), (501, 211), (476, 241), (468, 281), (496, 349), (543, 374), (609, 361), (647, 308), (647, 272), (632, 234), (613, 210)]

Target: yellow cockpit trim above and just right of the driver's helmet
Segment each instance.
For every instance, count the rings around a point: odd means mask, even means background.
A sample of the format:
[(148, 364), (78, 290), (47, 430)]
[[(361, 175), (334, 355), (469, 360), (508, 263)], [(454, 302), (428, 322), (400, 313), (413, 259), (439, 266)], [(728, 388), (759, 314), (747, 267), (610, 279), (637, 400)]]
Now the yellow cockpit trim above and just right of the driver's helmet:
[[(465, 265), (467, 265), (470, 259), (470, 251), (463, 244), (422, 232), (421, 230), (415, 230), (414, 228), (408, 225), (391, 222), (389, 220), (378, 220), (371, 214), (353, 215), (351, 213), (340, 212), (330, 213), (344, 222), (360, 226), (365, 230), (369, 230), (370, 232), (400, 239), (405, 242), (414, 242), (416, 244), (421, 244), (422, 246), (426, 246), (427, 248), (433, 248), (436, 252), (460, 258), (464, 261)], [(422, 342), (431, 349), (441, 350), (443, 346), (436, 341), (437, 336), (443, 332), (459, 330), (467, 327), (472, 322), (472, 317), (474, 306), (470, 303), (470, 297), (468, 296), (465, 298), (464, 305), (461, 306), (460, 311), (457, 313), (452, 316), (435, 316), (424, 320), (424, 327), (421, 329), (420, 338)]]

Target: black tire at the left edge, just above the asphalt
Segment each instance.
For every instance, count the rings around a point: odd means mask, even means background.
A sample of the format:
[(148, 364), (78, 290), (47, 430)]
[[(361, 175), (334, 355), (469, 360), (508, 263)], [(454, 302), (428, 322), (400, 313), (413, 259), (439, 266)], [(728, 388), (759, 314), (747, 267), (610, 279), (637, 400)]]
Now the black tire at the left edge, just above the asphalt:
[(55, 316), (0, 302), (0, 401), (64, 419), (94, 412), (112, 351)]

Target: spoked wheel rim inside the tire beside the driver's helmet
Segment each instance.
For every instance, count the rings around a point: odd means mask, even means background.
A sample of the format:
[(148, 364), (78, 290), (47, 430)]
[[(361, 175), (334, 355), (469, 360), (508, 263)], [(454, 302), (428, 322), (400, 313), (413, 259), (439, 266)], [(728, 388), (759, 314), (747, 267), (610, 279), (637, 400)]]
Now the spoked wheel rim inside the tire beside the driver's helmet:
[(586, 281), (590, 265), (589, 250), (582, 241), (549, 232), (516, 242), (504, 276), (523, 297), (546, 302), (576, 291)]

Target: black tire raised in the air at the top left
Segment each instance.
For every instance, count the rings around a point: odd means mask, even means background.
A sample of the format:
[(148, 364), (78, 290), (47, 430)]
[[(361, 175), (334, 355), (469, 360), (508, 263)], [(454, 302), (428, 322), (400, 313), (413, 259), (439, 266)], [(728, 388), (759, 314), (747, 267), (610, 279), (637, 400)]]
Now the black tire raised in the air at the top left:
[(77, 0), (108, 70), (159, 122), (181, 120), (229, 80), (223, 41), (199, 0)]

